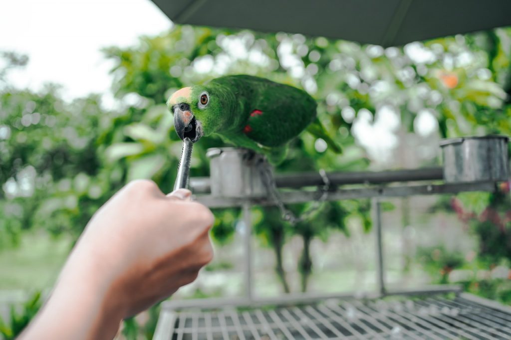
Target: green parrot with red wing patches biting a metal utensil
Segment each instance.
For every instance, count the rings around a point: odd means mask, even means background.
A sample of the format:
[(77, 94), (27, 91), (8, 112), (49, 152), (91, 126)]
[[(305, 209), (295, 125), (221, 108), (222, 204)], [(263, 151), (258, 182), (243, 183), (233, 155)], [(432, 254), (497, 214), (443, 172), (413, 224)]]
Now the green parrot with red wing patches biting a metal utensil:
[(341, 152), (316, 118), (317, 104), (307, 92), (264, 78), (226, 76), (184, 87), (167, 106), (181, 139), (195, 142), (217, 134), (236, 147), (265, 154), (273, 164), (285, 159), (289, 141), (307, 127)]

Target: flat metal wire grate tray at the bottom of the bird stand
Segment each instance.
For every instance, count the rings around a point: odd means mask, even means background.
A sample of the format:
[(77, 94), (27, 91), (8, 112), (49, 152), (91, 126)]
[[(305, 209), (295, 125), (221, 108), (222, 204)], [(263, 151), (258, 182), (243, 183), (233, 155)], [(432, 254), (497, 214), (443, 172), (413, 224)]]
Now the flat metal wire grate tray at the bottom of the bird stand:
[(511, 312), (461, 296), (174, 313), (169, 340), (511, 339)]

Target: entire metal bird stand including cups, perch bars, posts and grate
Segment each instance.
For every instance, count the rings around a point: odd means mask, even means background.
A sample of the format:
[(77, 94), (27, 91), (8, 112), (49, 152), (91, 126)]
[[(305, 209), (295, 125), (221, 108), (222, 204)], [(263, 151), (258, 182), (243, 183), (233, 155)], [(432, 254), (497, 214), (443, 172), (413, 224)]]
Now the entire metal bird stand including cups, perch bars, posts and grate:
[[(497, 141), (501, 142), (502, 138), (499, 138)], [(190, 186), (195, 199), (208, 207), (242, 208), (245, 225), (245, 292), (236, 298), (164, 302), (155, 338), (511, 338), (510, 307), (461, 293), (461, 287), (457, 285), (429, 285), (404, 290), (389, 289), (386, 285), (382, 198), (494, 191), (497, 182), (508, 176), (508, 160), (504, 156), (497, 162), (500, 164), (499, 171), (486, 174), (485, 169), (492, 166), (481, 160), (492, 159), (487, 157), (488, 150), (492, 148), (475, 142), (463, 144), (450, 141), (446, 145), (456, 158), (456, 162), (451, 162), (448, 169), (434, 167), (382, 172), (321, 172), (273, 177), (271, 169), (268, 171), (266, 168), (266, 174), (272, 177), (271, 187), (278, 189), (276, 195), (275, 192), (269, 195), (268, 183), (263, 187), (264, 181), (261, 178), (254, 179), (254, 174), (264, 173), (261, 168), (257, 168), (264, 165), (264, 162), (259, 162), (259, 165), (247, 164), (243, 161), (246, 151), (240, 149), (215, 150), (214, 157), (217, 158), (212, 160), (211, 172), (214, 178), (192, 178)], [(222, 153), (225, 156), (223, 159)], [(467, 159), (465, 156), (468, 154), (473, 157)], [(229, 162), (235, 162), (234, 166), (229, 166)], [(213, 166), (213, 163), (216, 165)], [(446, 172), (459, 172), (455, 179), (462, 183), (444, 182)], [(249, 181), (252, 182), (247, 183)], [(314, 190), (313, 187), (323, 189)], [(251, 207), (277, 205), (284, 210), (284, 204), (317, 201), (318, 193), (321, 194), (321, 201), (371, 199), (376, 242), (376, 291), (362, 294), (288, 294), (270, 299), (255, 296), (252, 280)], [(450, 293), (454, 293), (454, 298)], [(388, 296), (401, 297), (392, 303), (381, 299)], [(267, 309), (260, 306), (281, 307)]]

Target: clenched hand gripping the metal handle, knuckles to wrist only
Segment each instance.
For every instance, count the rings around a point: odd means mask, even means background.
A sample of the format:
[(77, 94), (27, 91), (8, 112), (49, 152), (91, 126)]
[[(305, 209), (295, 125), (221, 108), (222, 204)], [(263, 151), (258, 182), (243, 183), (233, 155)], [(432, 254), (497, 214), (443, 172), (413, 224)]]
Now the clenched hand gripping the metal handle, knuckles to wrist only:
[(90, 220), (76, 255), (95, 254), (110, 298), (130, 317), (192, 281), (213, 258), (211, 211), (191, 192), (165, 196), (152, 181), (134, 181)]

